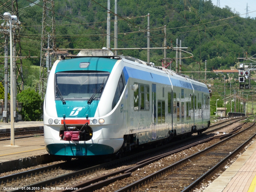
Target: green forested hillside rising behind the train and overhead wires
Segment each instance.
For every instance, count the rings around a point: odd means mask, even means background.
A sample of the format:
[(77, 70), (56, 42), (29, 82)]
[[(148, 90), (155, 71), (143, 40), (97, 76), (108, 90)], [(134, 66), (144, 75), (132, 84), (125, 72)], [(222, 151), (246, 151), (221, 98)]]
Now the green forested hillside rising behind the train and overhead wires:
[[(28, 6), (26, 0), (18, 1), (19, 8)], [(39, 5), (42, 5), (41, 1)], [(56, 40), (58, 48), (95, 48), (106, 47), (107, 0), (58, 0), (55, 1)], [(198, 71), (196, 62), (207, 60), (208, 70), (226, 69), (234, 66), (236, 57), (256, 53), (256, 21), (242, 18), (231, 8), (219, 8), (211, 0), (204, 0), (199, 9), (199, 0), (186, 1), (184, 17), (183, 0), (118, 0), (118, 48), (147, 47), (147, 14), (150, 13), (151, 47), (163, 47), (164, 31), (167, 28), (167, 46), (176, 46), (176, 38), (182, 40), (182, 47), (188, 47), (193, 59), (183, 60), (182, 71)], [(114, 12), (114, 0), (111, 0)], [(42, 7), (35, 5), (20, 9), (23, 23), (23, 55), (40, 56), (42, 34)], [(63, 17), (65, 15), (66, 17)], [(227, 19), (226, 19), (227, 18)], [(77, 21), (77, 22), (76, 22)], [(83, 23), (83, 24), (79, 24)], [(111, 14), (111, 34), (114, 33), (114, 15)], [(114, 48), (114, 38), (111, 37)], [(76, 51), (70, 53), (77, 53)], [(120, 54), (147, 60), (146, 50), (120, 51)], [(190, 56), (183, 53), (184, 57)], [(150, 61), (160, 65), (163, 50), (150, 52)], [(167, 50), (167, 57), (175, 58), (175, 51)], [(39, 78), (40, 59), (23, 61), (25, 84), (35, 86)], [(174, 67), (174, 65), (172, 66)], [(204, 71), (204, 63), (201, 69)], [(210, 76), (210, 74), (209, 74)], [(197, 77), (197, 74), (194, 74)]]

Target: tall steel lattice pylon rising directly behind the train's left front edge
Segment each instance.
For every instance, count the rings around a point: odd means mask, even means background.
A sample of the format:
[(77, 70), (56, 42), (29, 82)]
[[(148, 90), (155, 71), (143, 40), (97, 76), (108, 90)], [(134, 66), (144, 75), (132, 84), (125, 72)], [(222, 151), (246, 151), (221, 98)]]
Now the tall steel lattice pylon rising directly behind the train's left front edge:
[[(44, 49), (56, 48), (55, 39), (55, 16), (54, 16), (54, 0), (43, 0), (43, 20), (42, 20), (42, 40), (41, 40), (41, 58), (40, 58), (40, 80), (39, 94), (44, 98), (46, 91), (48, 71), (50, 69), (49, 51)], [(56, 56), (56, 54), (53, 54)], [(55, 57), (56, 60), (56, 57)]]

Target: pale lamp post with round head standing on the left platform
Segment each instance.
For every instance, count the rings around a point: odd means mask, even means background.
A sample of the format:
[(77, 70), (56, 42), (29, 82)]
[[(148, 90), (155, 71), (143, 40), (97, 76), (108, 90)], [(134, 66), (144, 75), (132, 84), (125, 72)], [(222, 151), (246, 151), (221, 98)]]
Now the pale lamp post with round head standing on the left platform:
[[(14, 144), (14, 108), (13, 108), (13, 58), (12, 58), (12, 15), (8, 12), (5, 12), (4, 20), (10, 22), (10, 75), (11, 75), (11, 145)], [(15, 16), (16, 17), (16, 16)], [(17, 17), (16, 17), (17, 18)]]

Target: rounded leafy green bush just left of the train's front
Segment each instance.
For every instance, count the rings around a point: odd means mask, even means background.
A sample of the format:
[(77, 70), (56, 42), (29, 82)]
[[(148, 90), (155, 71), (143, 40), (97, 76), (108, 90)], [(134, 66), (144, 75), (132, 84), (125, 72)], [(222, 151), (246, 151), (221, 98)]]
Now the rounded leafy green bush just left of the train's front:
[(41, 118), (42, 110), (40, 106), (43, 100), (38, 92), (32, 89), (24, 90), (17, 95), (17, 100), (23, 103), (21, 116), (24, 121), (36, 121)]

